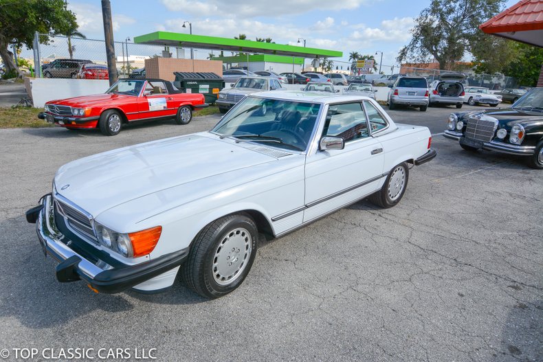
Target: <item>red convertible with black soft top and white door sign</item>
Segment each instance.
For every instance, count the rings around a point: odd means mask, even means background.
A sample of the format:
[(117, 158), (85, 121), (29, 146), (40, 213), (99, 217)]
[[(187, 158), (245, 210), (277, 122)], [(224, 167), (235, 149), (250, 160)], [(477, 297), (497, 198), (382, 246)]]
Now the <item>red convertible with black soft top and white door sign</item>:
[(166, 80), (121, 79), (104, 94), (49, 101), (38, 118), (70, 130), (100, 128), (113, 136), (139, 120), (175, 118), (177, 124), (188, 124), (192, 111), (207, 106), (203, 94), (181, 93)]

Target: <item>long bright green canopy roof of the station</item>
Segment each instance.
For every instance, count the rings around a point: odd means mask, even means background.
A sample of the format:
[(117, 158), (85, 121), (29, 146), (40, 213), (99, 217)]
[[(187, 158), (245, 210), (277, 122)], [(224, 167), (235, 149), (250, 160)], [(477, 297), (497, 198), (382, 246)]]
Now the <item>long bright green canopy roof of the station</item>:
[(300, 56), (303, 58), (335, 58), (343, 56), (343, 52), (337, 52), (335, 50), (172, 32), (154, 32), (151, 34), (135, 36), (134, 43), (170, 47), (216, 49), (228, 52), (253, 52), (282, 56)]

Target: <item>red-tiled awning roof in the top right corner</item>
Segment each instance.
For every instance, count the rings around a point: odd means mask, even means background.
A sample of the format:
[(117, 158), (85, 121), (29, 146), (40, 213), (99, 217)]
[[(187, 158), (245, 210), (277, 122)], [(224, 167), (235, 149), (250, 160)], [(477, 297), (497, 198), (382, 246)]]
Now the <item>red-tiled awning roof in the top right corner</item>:
[(479, 25), (487, 34), (543, 47), (543, 0), (522, 0)]

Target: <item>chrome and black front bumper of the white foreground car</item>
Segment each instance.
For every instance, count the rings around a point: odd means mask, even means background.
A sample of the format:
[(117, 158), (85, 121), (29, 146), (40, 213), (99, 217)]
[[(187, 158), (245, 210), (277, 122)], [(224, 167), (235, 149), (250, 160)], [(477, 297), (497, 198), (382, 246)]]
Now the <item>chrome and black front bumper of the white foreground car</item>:
[(188, 249), (181, 249), (140, 264), (102, 268), (69, 247), (71, 240), (56, 227), (51, 194), (43, 196), (40, 206), (28, 210), (26, 217), (30, 223), (36, 222), (36, 233), (44, 253), (60, 262), (56, 266), (57, 280), (84, 280), (102, 293), (120, 293), (142, 284), (179, 267), (188, 257)]

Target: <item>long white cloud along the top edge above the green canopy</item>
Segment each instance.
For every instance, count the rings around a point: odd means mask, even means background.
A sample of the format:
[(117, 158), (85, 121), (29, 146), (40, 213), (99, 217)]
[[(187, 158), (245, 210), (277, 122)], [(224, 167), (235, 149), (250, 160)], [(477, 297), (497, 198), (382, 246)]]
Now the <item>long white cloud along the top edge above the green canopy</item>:
[(241, 19), (256, 16), (277, 16), (278, 14), (302, 14), (309, 10), (353, 10), (372, 0), (275, 0), (267, 3), (247, 0), (162, 0), (170, 11), (182, 11), (194, 16), (207, 12), (239, 16)]

